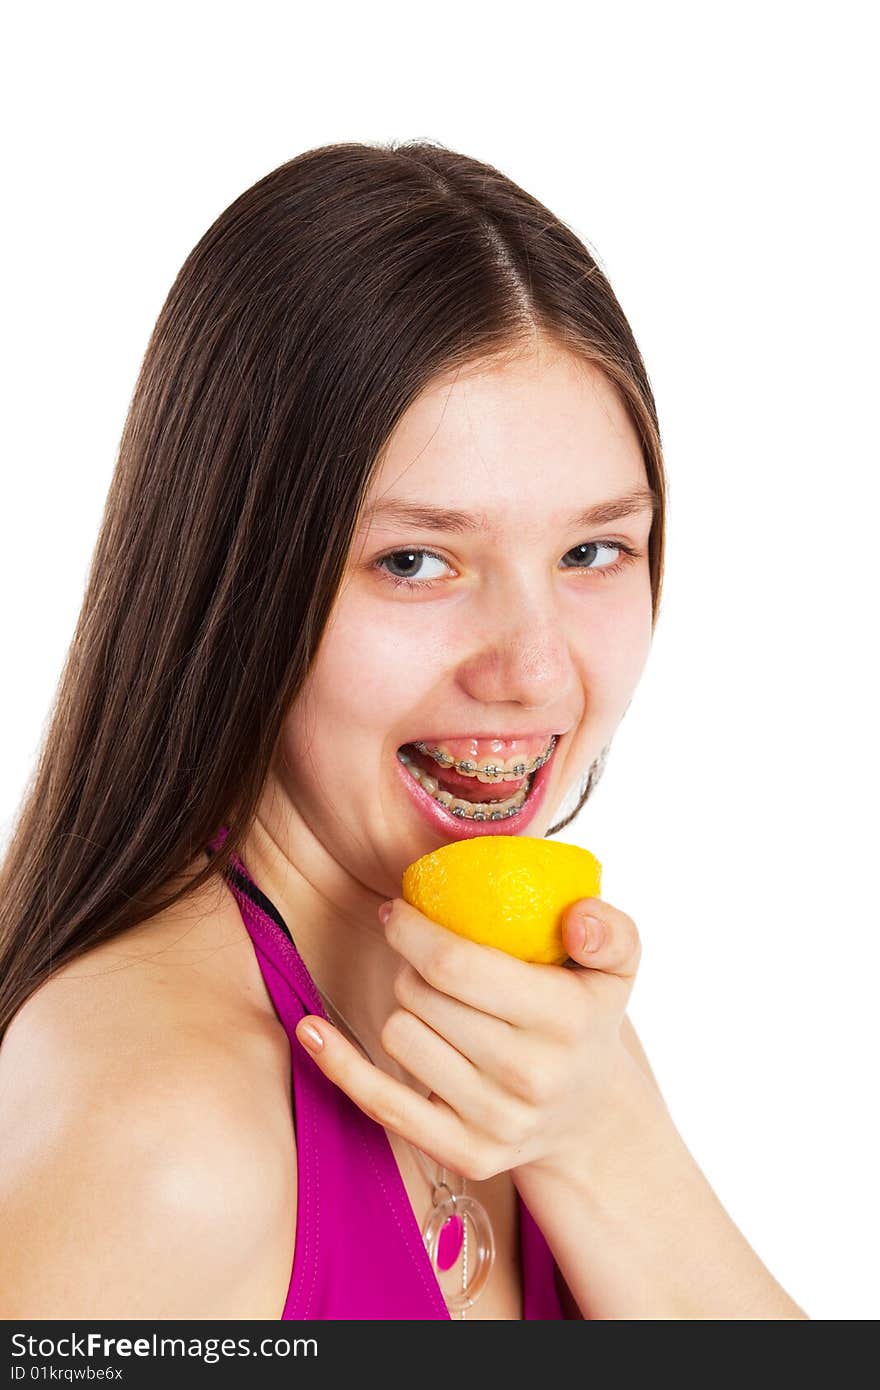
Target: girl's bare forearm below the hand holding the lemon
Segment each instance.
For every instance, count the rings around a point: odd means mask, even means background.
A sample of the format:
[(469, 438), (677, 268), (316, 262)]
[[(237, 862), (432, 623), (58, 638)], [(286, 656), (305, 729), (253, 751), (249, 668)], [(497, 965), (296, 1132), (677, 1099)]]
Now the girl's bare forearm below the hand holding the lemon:
[(517, 1169), (514, 1179), (584, 1318), (806, 1318), (730, 1219), (634, 1065), (623, 1068), (614, 1108), (588, 1152), (552, 1170)]

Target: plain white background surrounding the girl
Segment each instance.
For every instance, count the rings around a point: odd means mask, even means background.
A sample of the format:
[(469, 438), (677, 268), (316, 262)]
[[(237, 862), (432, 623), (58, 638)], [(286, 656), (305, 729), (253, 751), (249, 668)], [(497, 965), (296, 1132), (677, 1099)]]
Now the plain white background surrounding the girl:
[(334, 140), (484, 158), (595, 252), (670, 478), (660, 624), (563, 838), (637, 920), (676, 1122), (817, 1319), (880, 1314), (867, 4), (33, 4), (7, 24), (8, 838), (185, 256)]

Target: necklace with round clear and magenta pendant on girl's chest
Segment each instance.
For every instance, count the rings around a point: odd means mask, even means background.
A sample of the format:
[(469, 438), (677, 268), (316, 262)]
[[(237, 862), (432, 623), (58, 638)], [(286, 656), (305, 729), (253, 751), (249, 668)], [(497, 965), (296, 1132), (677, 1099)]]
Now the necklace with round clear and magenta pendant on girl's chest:
[[(325, 994), (324, 990), (318, 990), (318, 995), (321, 997), (321, 1002), (332, 1013), (335, 1013), (336, 1019), (352, 1036), (353, 1041), (357, 1044), (367, 1061), (375, 1066), (375, 1062), (360, 1041), (357, 1033), (345, 1015), (336, 1008), (329, 995)], [(403, 1138), (402, 1134), (398, 1137)], [(438, 1163), (437, 1176), (432, 1176), (428, 1168), (427, 1154), (423, 1154), (423, 1151), (416, 1144), (410, 1143), (410, 1140), (403, 1140), (403, 1143), (412, 1148), (421, 1172), (431, 1184), (431, 1211), (425, 1216), (421, 1227), (421, 1238), (424, 1240), (431, 1268), (450, 1314), (457, 1314), (459, 1318), (466, 1318), (467, 1308), (477, 1302), (477, 1298), (487, 1286), (492, 1265), (495, 1264), (495, 1236), (489, 1213), (482, 1202), (467, 1194), (467, 1182), (464, 1177), (462, 1177), (462, 1190), (459, 1193), (453, 1193), (446, 1180), (446, 1169)], [(446, 1194), (445, 1197), (442, 1195), (443, 1193)], [(467, 1236), (468, 1223), (473, 1226), (475, 1247), (474, 1268), (470, 1272), (470, 1277)], [(462, 1255), (462, 1290), (460, 1293), (446, 1293), (441, 1284), (439, 1276), (441, 1273), (445, 1275), (446, 1270), (455, 1266), (459, 1254)]]

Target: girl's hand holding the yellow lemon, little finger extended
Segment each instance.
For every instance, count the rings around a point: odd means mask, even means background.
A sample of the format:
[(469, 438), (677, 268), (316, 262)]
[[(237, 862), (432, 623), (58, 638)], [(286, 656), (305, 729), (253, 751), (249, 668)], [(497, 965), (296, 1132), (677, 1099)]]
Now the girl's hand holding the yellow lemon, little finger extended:
[[(385, 937), (405, 965), (381, 1044), (431, 1094), (309, 1015), (296, 1036), (324, 1074), (371, 1119), (474, 1182), (525, 1165), (582, 1165), (635, 1069), (620, 1037), (641, 955), (633, 919), (599, 898), (573, 903), (566, 966), (478, 945), (402, 898)], [(317, 1054), (304, 1024), (324, 1041)]]

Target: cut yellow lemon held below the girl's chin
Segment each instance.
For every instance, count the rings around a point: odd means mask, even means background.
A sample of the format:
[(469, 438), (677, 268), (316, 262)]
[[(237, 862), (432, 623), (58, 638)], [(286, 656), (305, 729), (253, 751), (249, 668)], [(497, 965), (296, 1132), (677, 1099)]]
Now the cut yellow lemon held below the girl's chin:
[(569, 952), (562, 927), (578, 898), (601, 897), (588, 849), (530, 835), (477, 835), (434, 849), (403, 870), (402, 897), (460, 937), (546, 965)]

